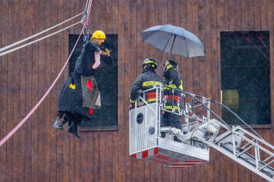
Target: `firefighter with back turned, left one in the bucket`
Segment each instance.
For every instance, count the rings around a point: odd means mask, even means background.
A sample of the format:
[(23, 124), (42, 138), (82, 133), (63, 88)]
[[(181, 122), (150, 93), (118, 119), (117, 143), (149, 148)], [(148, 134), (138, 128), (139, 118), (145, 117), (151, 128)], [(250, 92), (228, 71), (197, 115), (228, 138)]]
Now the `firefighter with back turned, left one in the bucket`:
[[(155, 73), (155, 69), (157, 69), (157, 64), (153, 58), (147, 58), (142, 62), (142, 73), (137, 77), (136, 81), (132, 83), (132, 88), (130, 88), (129, 109), (134, 108), (140, 91), (162, 85), (162, 79)], [(147, 93), (146, 99), (148, 103), (153, 103), (155, 98), (155, 90)]]

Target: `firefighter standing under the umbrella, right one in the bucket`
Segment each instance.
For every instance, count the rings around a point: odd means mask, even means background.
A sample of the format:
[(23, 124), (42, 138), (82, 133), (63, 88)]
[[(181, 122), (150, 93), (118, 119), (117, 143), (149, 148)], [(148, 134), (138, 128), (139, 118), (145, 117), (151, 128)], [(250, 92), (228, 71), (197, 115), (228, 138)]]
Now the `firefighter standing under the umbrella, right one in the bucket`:
[[(177, 73), (178, 64), (173, 60), (168, 60), (164, 64), (164, 85), (178, 90), (183, 90), (182, 79)], [(177, 92), (171, 88), (164, 88), (164, 109), (179, 113), (181, 92)], [(182, 130), (181, 116), (173, 114), (171, 112), (164, 112), (162, 116), (161, 127), (175, 127)], [(162, 137), (165, 137), (166, 133), (161, 133)], [(181, 142), (176, 136), (174, 141)]]

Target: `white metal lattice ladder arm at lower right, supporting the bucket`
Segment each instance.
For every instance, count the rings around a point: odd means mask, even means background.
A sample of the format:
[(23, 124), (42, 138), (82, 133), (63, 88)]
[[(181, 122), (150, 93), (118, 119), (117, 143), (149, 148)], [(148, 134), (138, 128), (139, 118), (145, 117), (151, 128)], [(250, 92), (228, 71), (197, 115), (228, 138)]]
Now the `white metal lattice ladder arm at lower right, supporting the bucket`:
[[(210, 123), (210, 125), (214, 123), (214, 127), (219, 130), (221, 123), (218, 120), (212, 119)], [(274, 168), (271, 167), (271, 164), (274, 164), (274, 146), (239, 126), (216, 136), (214, 140), (212, 140), (213, 135), (208, 137), (206, 134), (208, 130), (204, 130), (204, 128), (205, 126), (201, 125), (199, 132), (192, 133), (192, 139), (215, 148), (216, 151), (223, 153), (264, 179), (274, 181)]]

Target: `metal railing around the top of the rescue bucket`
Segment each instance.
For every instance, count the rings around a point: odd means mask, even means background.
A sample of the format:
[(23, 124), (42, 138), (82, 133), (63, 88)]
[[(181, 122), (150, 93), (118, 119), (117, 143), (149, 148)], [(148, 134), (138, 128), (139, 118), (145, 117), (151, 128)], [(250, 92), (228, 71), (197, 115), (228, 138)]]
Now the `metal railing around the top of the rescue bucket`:
[[(169, 88), (172, 90), (172, 106), (171, 109), (164, 109), (164, 88)], [(174, 101), (175, 94), (174, 92), (179, 92), (181, 93), (180, 100), (179, 100), (179, 105), (176, 101)], [(236, 113), (234, 113), (229, 107), (226, 105), (223, 105), (219, 103), (218, 101), (214, 101), (212, 99), (208, 99), (203, 96), (199, 96), (197, 94), (192, 94), (189, 92), (185, 92), (183, 90), (179, 90), (176, 88), (171, 88), (169, 86), (154, 86), (153, 88), (150, 88), (148, 90), (143, 90), (140, 92), (139, 97), (138, 97), (138, 102), (135, 104), (135, 108), (140, 107), (142, 105), (149, 105), (147, 102), (147, 93), (148, 92), (155, 92), (155, 102), (158, 103), (158, 113), (159, 113), (159, 120), (160, 120), (160, 115), (162, 112), (170, 112), (172, 114), (177, 114), (184, 116), (184, 122), (186, 125), (190, 124), (190, 122), (207, 122), (210, 120), (210, 118), (216, 118), (220, 122), (225, 125), (225, 128), (227, 130), (232, 131), (232, 127), (230, 127), (219, 114), (214, 112), (210, 107), (212, 104), (216, 104), (217, 106), (221, 106), (225, 109), (227, 109), (231, 114), (236, 116), (240, 122), (242, 122), (242, 125), (245, 125), (248, 127), (254, 134), (256, 134), (259, 138), (262, 138), (254, 129), (252, 129), (247, 123), (242, 120)], [(175, 112), (175, 106), (179, 107), (178, 111)]]

